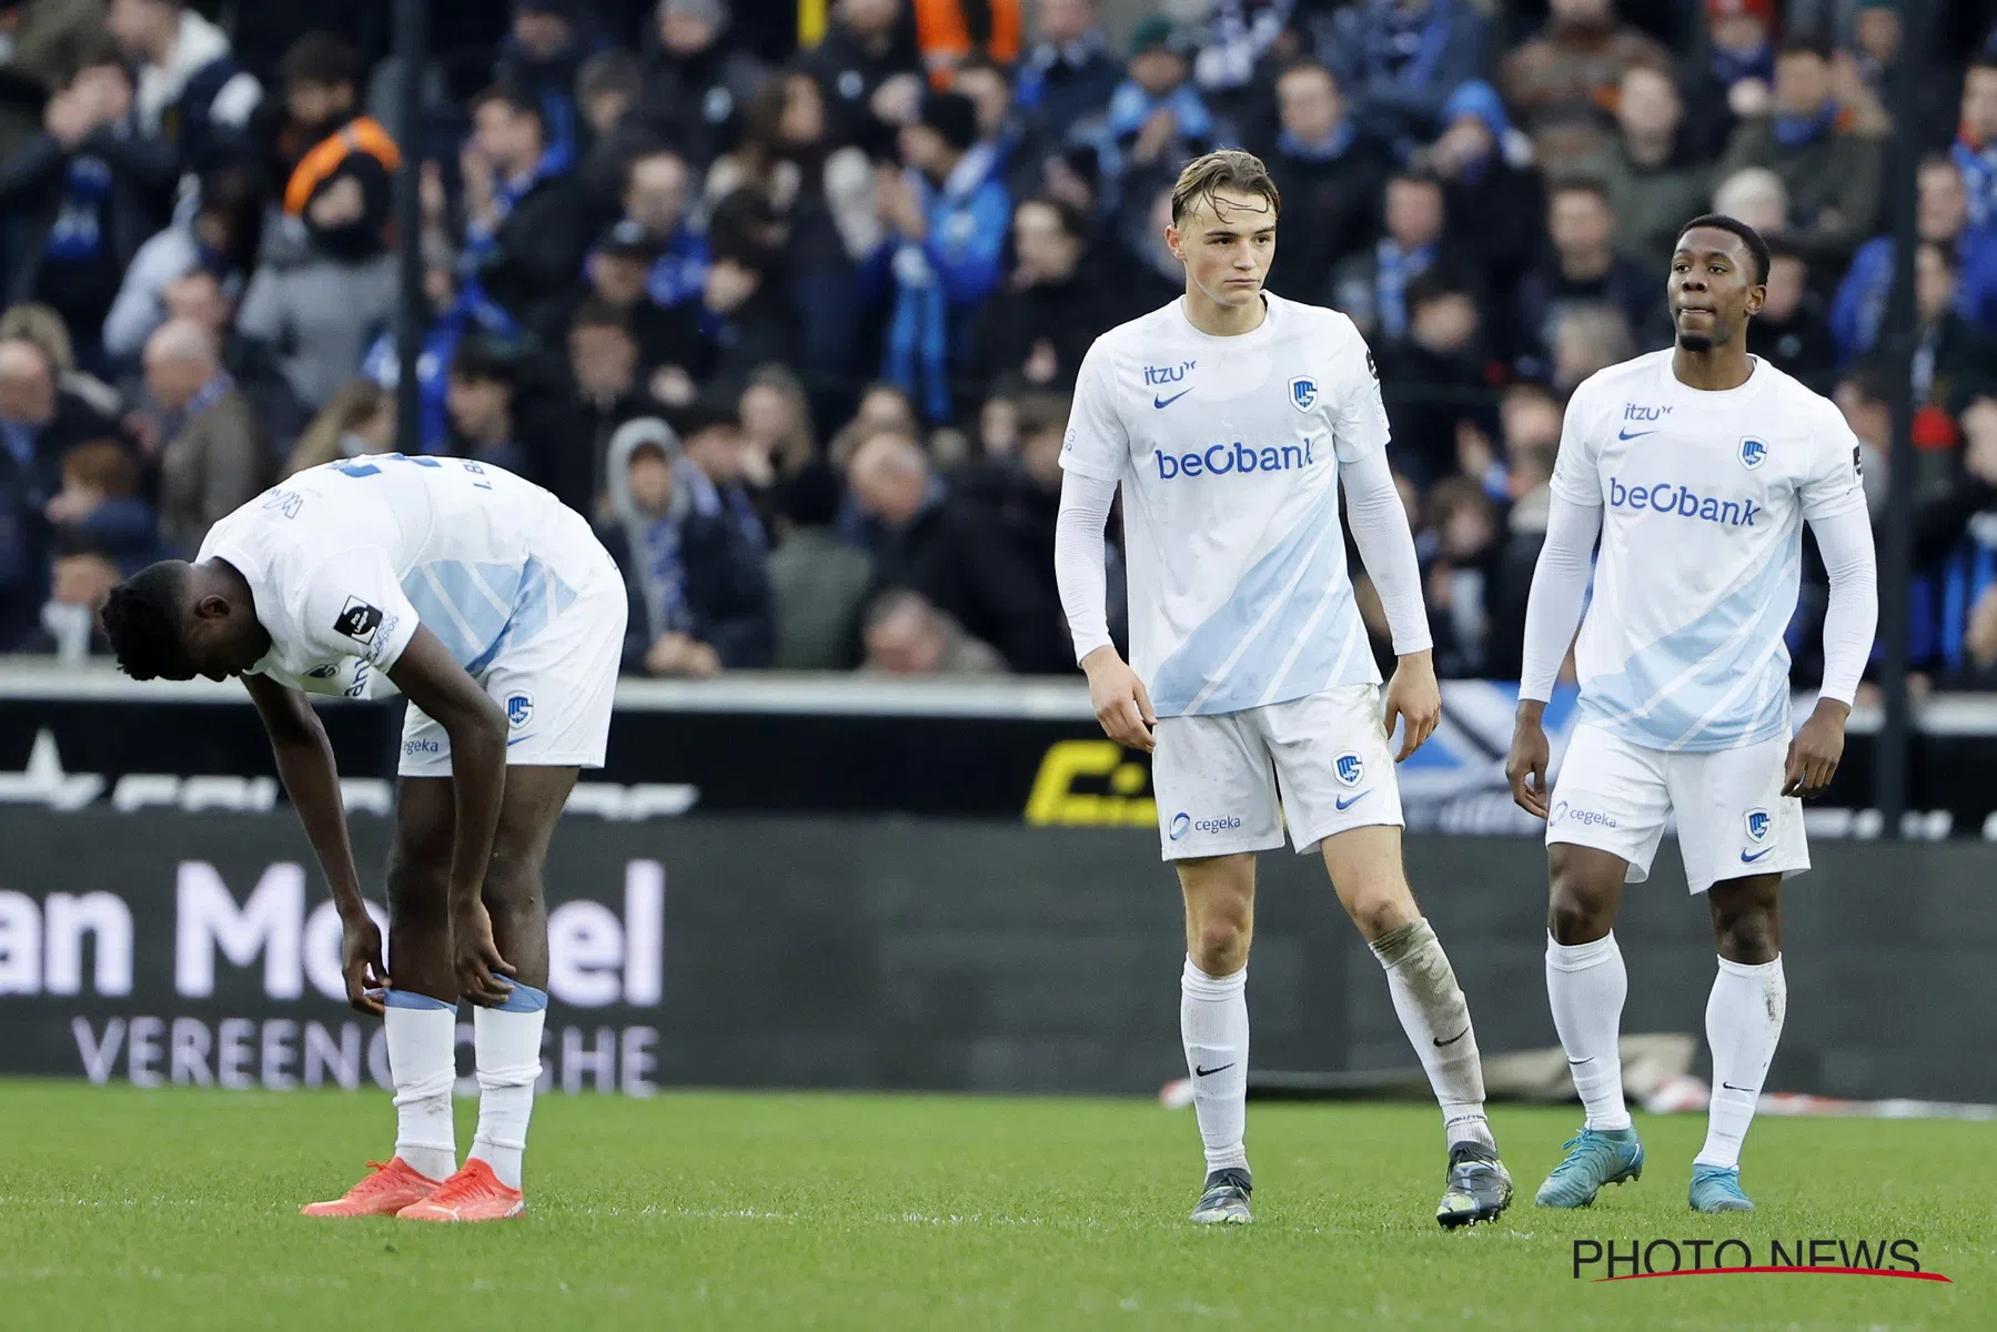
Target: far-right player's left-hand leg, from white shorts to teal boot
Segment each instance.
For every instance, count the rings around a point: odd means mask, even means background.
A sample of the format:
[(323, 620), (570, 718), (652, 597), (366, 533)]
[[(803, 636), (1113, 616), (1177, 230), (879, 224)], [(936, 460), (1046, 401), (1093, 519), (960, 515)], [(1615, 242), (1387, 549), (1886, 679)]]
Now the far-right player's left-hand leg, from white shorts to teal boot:
[(1650, 877), (1669, 791), (1662, 755), (1576, 727), (1546, 823), (1546, 999), (1586, 1120), (1540, 1184), (1540, 1206), (1588, 1206), (1604, 1184), (1644, 1174), (1644, 1144), (1622, 1088), (1622, 1008), (1630, 993), (1616, 909), (1624, 883)]

